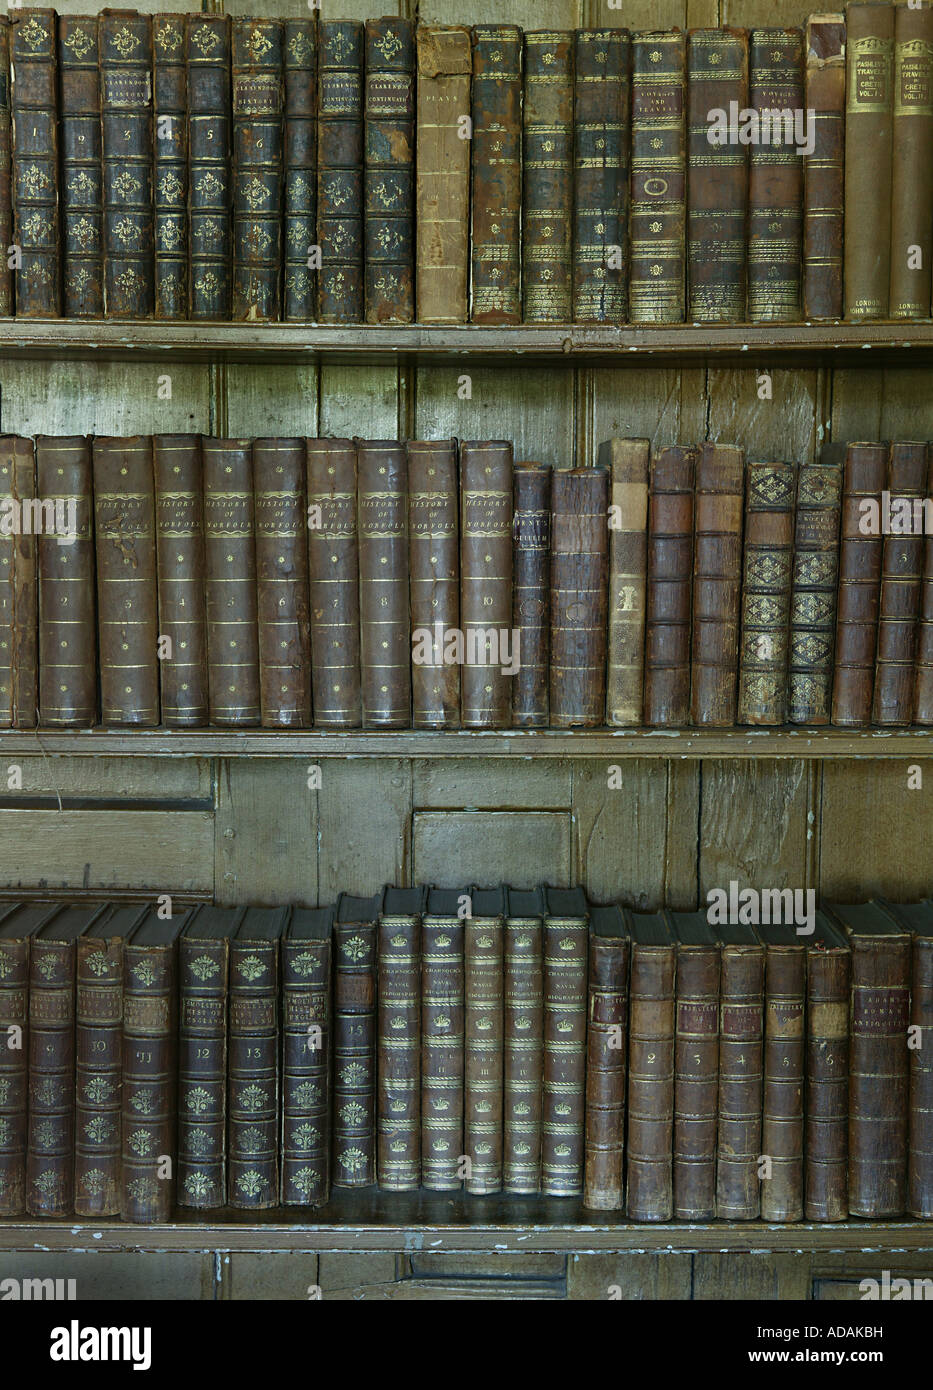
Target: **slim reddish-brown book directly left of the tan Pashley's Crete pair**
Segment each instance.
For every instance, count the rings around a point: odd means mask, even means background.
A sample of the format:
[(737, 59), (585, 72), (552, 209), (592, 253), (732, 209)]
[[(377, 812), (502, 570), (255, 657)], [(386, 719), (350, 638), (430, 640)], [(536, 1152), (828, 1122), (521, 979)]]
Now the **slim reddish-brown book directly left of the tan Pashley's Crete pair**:
[(804, 156), (804, 318), (841, 318), (845, 15), (812, 14), (805, 33), (813, 149)]

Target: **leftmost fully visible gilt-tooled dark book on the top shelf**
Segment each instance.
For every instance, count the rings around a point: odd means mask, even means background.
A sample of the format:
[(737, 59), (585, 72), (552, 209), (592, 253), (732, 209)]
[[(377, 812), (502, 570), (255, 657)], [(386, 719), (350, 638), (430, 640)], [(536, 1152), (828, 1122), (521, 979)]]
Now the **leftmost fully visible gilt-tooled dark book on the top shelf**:
[(57, 318), (61, 313), (61, 240), (56, 11), (14, 14), (10, 56), (15, 75), (10, 107), (13, 245), (19, 247), (14, 265), (17, 318)]

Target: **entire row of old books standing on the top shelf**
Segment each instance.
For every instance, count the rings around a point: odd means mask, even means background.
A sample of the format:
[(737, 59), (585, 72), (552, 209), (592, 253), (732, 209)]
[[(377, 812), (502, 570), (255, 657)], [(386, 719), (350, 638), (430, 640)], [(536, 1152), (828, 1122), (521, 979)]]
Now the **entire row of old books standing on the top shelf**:
[(10, 58), (0, 314), (930, 316), (926, 3), (688, 33), (28, 10)]

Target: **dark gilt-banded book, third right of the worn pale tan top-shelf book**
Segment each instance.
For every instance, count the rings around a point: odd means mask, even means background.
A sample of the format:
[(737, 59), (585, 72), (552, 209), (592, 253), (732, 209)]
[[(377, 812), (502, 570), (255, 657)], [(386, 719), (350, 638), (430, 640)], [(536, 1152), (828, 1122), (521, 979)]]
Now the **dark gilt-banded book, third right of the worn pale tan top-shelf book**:
[(573, 321), (628, 317), (631, 35), (573, 36)]

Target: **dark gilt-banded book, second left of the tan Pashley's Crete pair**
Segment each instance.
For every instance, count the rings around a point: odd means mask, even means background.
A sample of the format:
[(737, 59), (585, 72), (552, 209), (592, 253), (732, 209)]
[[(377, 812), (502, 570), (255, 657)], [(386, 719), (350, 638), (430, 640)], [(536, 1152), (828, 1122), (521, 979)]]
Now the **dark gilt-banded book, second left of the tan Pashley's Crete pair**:
[[(801, 317), (804, 157), (787, 115), (804, 110), (804, 35), (752, 29), (748, 36), (749, 107), (762, 121), (748, 164), (748, 321), (794, 322)], [(780, 133), (776, 129), (780, 126)]]

